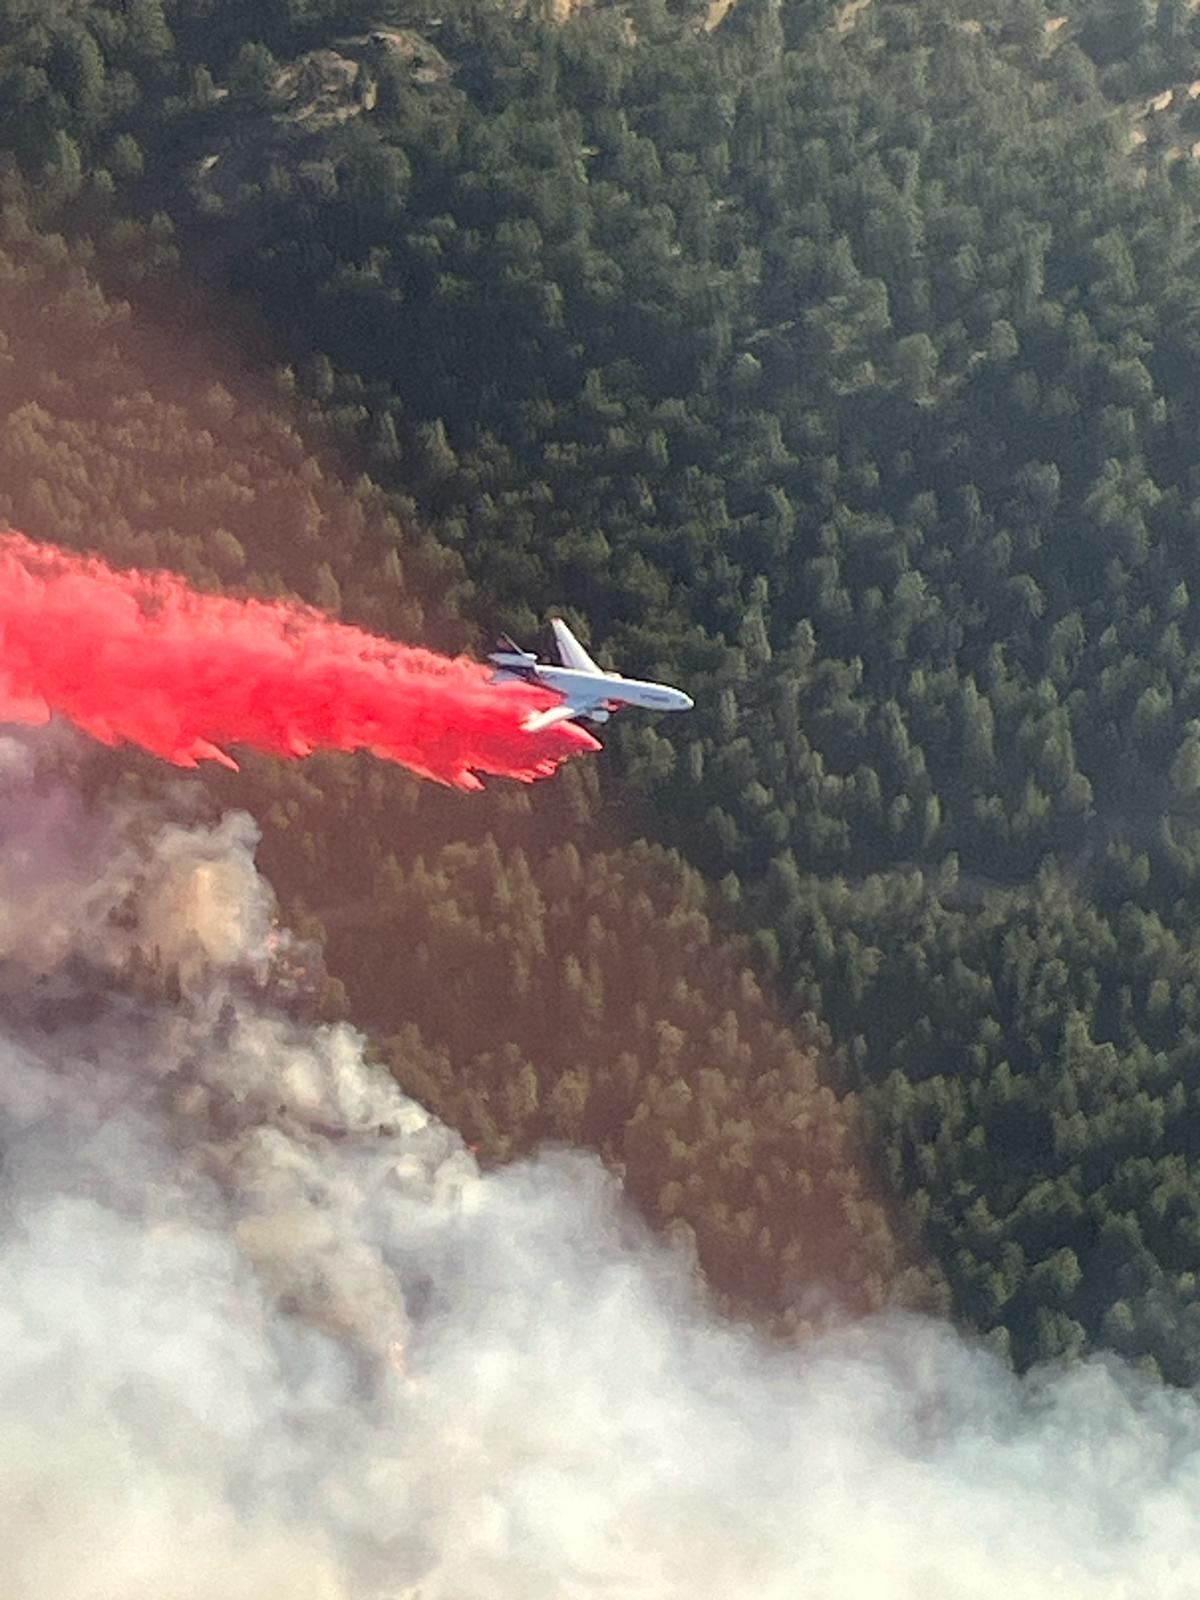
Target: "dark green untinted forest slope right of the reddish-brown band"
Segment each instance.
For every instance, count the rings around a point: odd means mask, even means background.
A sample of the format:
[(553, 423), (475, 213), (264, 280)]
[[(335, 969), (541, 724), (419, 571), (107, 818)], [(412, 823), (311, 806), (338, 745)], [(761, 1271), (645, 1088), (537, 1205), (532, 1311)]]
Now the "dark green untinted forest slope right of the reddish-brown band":
[(48, 202), (165, 213), (466, 616), (686, 680), (555, 822), (720, 885), (960, 1315), (1192, 1381), (1200, 168), (1131, 149), (1115, 40), (1192, 82), (1195, 18), (467, 0), (398, 19), (445, 72), (309, 128), (280, 62), (378, 19), (214, 11), (10, 54)]

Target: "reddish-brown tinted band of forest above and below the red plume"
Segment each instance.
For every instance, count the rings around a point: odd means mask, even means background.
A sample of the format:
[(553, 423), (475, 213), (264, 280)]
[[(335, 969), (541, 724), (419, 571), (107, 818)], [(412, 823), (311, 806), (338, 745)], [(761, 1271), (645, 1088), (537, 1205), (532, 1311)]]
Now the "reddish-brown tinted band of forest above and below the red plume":
[[(181, 360), (86, 258), (10, 211), (3, 515), (203, 587), (466, 638), (458, 563), (338, 477), (286, 387), (256, 389), (202, 338)], [(56, 770), (91, 797), (179, 782), (128, 749), (66, 752)], [(483, 1160), (600, 1150), (717, 1296), (781, 1330), (814, 1294), (805, 1317), (938, 1301), (866, 1176), (858, 1101), (822, 1083), (827, 1042), (779, 1016), (698, 874), (581, 826), (595, 773), (462, 797), (366, 755), (238, 757), (192, 782), (259, 821), (285, 920), (323, 947), (312, 1005), (371, 1026), (376, 1059)]]

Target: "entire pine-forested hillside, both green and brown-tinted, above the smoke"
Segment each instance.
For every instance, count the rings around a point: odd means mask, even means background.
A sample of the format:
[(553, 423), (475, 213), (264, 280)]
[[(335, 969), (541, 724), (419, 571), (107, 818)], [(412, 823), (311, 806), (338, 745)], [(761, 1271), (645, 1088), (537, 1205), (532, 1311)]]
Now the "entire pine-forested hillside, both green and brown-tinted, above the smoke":
[(739, 1307), (944, 1280), (1018, 1363), (1200, 1378), (1192, 8), (0, 45), (5, 515), (443, 646), (565, 608), (696, 694), (474, 805), (213, 779), (328, 1005), (486, 1155), (602, 1149)]

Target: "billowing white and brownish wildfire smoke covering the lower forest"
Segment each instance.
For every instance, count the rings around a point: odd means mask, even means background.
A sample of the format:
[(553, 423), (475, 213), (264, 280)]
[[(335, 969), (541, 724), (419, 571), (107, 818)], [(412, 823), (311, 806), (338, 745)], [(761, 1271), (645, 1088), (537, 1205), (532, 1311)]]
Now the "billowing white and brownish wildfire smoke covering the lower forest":
[(1200, 1594), (1192, 1398), (718, 1325), (594, 1160), (482, 1176), (298, 1019), (245, 816), (88, 816), (43, 746), (0, 744), (6, 1600)]

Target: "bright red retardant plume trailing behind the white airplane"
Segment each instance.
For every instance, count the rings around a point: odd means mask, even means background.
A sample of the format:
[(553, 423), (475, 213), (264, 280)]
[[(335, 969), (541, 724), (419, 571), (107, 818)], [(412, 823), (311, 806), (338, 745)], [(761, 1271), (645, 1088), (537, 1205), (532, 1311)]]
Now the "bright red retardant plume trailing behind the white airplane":
[(600, 744), (571, 722), (522, 723), (557, 696), (488, 683), (437, 656), (298, 605), (198, 594), (170, 573), (0, 534), (0, 722), (67, 717), (104, 744), (130, 741), (176, 766), (237, 763), (224, 744), (274, 755), (366, 749), (422, 778), (482, 789), (477, 773), (531, 782)]

